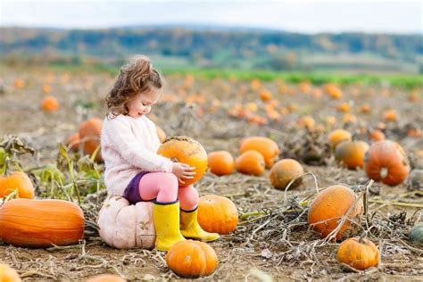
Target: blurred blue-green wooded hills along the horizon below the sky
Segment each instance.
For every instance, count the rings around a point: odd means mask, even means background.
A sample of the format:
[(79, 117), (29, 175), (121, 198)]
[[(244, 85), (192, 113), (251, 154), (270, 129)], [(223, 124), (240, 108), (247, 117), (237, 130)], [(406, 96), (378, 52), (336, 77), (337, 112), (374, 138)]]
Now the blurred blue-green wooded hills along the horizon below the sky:
[[(200, 67), (421, 71), (421, 35), (340, 33), (307, 35), (272, 29), (157, 25), (114, 29), (0, 28), (2, 60), (40, 57), (120, 63), (130, 54), (183, 59)], [(326, 61), (316, 62), (316, 57)], [(347, 60), (339, 58), (348, 57)], [(336, 59), (338, 58), (338, 59)], [(93, 60), (94, 60), (93, 59)], [(72, 61), (73, 60), (73, 61)], [(353, 62), (353, 63), (352, 63)], [(381, 64), (379, 62), (382, 62)]]

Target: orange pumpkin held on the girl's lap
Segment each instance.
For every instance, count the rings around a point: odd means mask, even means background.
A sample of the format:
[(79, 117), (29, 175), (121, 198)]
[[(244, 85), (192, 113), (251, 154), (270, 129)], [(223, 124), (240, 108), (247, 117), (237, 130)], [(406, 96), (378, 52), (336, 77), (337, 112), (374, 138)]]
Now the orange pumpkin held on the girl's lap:
[(185, 184), (180, 187), (187, 187), (194, 184), (203, 177), (207, 170), (207, 153), (203, 145), (190, 137), (169, 137), (159, 147), (157, 153), (177, 162), (187, 163), (195, 167), (195, 176), (192, 179), (184, 179)]

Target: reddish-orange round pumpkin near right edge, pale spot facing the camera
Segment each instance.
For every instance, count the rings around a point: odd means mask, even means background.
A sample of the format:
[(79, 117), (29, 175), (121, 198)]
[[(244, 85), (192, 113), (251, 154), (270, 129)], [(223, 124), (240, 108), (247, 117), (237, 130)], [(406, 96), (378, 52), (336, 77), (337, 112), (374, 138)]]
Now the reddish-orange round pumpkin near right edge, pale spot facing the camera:
[(364, 158), (369, 178), (389, 186), (401, 184), (410, 172), (410, 164), (402, 146), (391, 140), (373, 143)]

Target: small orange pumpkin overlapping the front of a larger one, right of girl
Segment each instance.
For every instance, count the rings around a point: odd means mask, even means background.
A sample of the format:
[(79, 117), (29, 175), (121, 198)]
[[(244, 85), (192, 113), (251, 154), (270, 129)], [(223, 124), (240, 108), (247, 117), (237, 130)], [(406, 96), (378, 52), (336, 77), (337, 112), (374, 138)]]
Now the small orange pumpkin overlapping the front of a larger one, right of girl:
[(235, 167), (241, 173), (259, 176), (265, 169), (263, 155), (254, 150), (245, 151), (236, 158)]

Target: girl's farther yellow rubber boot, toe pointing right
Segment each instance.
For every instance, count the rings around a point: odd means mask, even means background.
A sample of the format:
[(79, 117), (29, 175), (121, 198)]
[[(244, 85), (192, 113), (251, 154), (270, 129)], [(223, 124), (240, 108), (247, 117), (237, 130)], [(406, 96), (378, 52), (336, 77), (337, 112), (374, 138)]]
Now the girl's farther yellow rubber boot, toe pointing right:
[(198, 209), (194, 211), (180, 211), (180, 233), (190, 239), (211, 242), (219, 239), (219, 234), (209, 233), (201, 228), (197, 220)]

